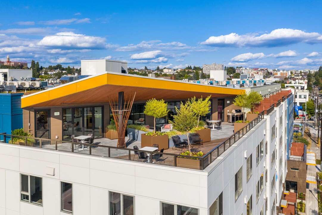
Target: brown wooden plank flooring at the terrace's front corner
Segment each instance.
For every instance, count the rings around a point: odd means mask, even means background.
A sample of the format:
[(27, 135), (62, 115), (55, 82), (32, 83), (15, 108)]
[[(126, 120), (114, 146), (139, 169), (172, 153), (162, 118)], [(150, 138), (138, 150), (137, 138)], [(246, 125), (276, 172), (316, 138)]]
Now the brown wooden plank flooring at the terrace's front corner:
[[(193, 148), (191, 148), (192, 152), (199, 152), (202, 151), (204, 154), (208, 153), (209, 151), (211, 151), (213, 148), (215, 148), (216, 146), (218, 146), (220, 143), (222, 143), (223, 141), (225, 141), (227, 138), (221, 138), (221, 139), (215, 139), (215, 140), (211, 140), (209, 142), (205, 142), (204, 143), (204, 147), (199, 146), (199, 145), (195, 145)], [(185, 148), (185, 150), (188, 150), (188, 148)], [(223, 151), (223, 149), (220, 150), (221, 152)], [(179, 148), (168, 148), (164, 150), (164, 153), (169, 153), (169, 154), (180, 154), (181, 152), (183, 152), (183, 150), (181, 151)], [(126, 159), (129, 160), (128, 155), (126, 156), (119, 156), (119, 157), (115, 157), (118, 159)], [(130, 160), (135, 160), (137, 161), (138, 159), (138, 155), (136, 154), (131, 154), (130, 156)], [(142, 162), (147, 162), (146, 160), (142, 160)], [(174, 156), (173, 155), (163, 155), (163, 158), (160, 159), (153, 159), (153, 162), (156, 164), (161, 164), (161, 165), (167, 165), (167, 166), (174, 166)]]

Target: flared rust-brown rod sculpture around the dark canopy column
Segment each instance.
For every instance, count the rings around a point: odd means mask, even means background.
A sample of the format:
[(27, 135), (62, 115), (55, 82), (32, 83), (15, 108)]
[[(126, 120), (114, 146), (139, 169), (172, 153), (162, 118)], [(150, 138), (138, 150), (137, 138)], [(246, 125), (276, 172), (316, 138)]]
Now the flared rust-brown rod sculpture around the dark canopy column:
[(124, 92), (118, 92), (117, 100), (114, 95), (109, 95), (109, 105), (112, 110), (113, 118), (118, 132), (118, 147), (126, 148), (125, 131), (128, 125), (128, 118), (131, 113), (136, 92), (128, 94), (124, 98)]

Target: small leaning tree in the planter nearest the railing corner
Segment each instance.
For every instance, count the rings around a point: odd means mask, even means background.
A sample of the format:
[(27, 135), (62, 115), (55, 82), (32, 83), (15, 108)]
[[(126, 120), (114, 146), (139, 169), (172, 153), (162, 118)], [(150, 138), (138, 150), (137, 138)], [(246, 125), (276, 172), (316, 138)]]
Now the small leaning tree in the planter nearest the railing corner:
[(189, 133), (197, 125), (198, 115), (191, 106), (191, 101), (188, 100), (185, 104), (181, 103), (180, 109), (175, 107), (176, 115), (173, 115), (173, 120), (170, 123), (173, 128), (179, 132), (186, 133), (188, 139), (188, 149), (191, 156), (190, 144), (189, 144)]

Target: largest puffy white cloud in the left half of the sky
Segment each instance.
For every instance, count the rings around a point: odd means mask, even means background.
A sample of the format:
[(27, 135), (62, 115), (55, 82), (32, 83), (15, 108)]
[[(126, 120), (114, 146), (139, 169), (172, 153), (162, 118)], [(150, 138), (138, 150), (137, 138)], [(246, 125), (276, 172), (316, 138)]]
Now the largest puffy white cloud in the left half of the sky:
[(105, 38), (86, 36), (73, 32), (60, 32), (52, 36), (45, 36), (37, 43), (39, 46), (65, 47), (65, 48), (91, 48), (104, 49)]

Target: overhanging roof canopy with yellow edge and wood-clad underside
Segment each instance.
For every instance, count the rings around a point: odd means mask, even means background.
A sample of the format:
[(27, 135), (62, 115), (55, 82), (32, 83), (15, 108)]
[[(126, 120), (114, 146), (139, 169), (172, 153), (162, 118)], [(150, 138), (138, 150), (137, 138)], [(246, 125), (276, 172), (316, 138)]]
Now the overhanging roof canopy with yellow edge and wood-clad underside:
[(210, 95), (213, 98), (232, 97), (245, 92), (245, 89), (105, 72), (24, 96), (21, 107), (103, 104), (108, 103), (109, 96), (116, 99), (120, 91), (125, 95), (136, 92), (135, 101), (146, 101), (151, 98), (183, 100)]

